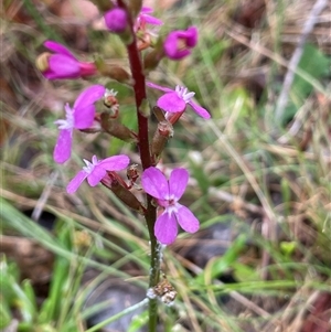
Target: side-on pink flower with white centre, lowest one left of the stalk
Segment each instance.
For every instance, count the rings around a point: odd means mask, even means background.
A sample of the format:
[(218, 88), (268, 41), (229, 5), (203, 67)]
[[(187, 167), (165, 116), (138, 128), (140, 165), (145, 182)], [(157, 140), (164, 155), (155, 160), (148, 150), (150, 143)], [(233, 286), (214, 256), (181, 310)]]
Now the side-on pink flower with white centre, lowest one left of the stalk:
[(85, 179), (90, 186), (96, 186), (103, 178), (107, 174), (107, 171), (120, 171), (128, 167), (130, 159), (128, 156), (119, 154), (98, 160), (96, 156), (92, 157), (92, 162), (83, 159), (86, 167), (83, 171), (79, 171), (76, 176), (66, 186), (66, 192), (73, 194), (79, 188)]

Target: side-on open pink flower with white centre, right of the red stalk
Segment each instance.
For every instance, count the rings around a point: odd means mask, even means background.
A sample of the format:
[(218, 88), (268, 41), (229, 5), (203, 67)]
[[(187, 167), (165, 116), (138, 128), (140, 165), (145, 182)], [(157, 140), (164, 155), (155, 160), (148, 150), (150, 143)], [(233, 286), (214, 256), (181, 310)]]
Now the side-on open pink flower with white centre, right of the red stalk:
[(182, 113), (185, 110), (186, 104), (189, 104), (193, 108), (193, 110), (204, 119), (209, 119), (211, 117), (211, 115), (205, 108), (191, 101), (195, 93), (189, 92), (188, 88), (184, 86), (178, 85), (174, 90), (169, 87), (163, 87), (153, 84), (151, 82), (148, 82), (147, 86), (166, 93), (157, 101), (157, 105), (166, 111)]

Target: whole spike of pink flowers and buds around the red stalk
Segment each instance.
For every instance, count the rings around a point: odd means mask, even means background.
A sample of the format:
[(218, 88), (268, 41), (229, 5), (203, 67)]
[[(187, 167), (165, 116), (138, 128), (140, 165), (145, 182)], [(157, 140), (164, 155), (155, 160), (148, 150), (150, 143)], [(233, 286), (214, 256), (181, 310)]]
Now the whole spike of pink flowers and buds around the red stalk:
[[(109, 32), (116, 33), (121, 39), (129, 55), (134, 54), (129, 56), (131, 68), (140, 67), (141, 71), (132, 71), (130, 75), (120, 66), (108, 65), (107, 61), (102, 57), (95, 62), (82, 62), (67, 47), (54, 41), (44, 43), (50, 52), (39, 56), (36, 66), (47, 79), (86, 79), (89, 76), (95, 76), (97, 79), (98, 76), (103, 76), (103, 83), (110, 78), (120, 84), (131, 85), (136, 94), (138, 119), (143, 115), (140, 122), (147, 121), (146, 124), (148, 124), (150, 114), (150, 110), (146, 111), (146, 107), (142, 105), (142, 99), (146, 98), (146, 87), (161, 90), (163, 95), (157, 100), (158, 129), (152, 142), (149, 143), (147, 125), (139, 127), (135, 132), (120, 122), (120, 96), (117, 96), (117, 92), (108, 90), (104, 85), (94, 84), (78, 95), (72, 107), (66, 104), (64, 107), (65, 118), (55, 121), (60, 132), (53, 153), (54, 161), (64, 163), (70, 160), (75, 130), (100, 132), (137, 143), (143, 168), (141, 175), (137, 165), (129, 167), (130, 159), (126, 154), (104, 159), (93, 156), (90, 161), (83, 159), (85, 167), (70, 181), (66, 191), (70, 194), (75, 193), (84, 180), (87, 180), (90, 186), (102, 183), (127, 205), (139, 213), (148, 214), (149, 207), (130, 191), (132, 186), (139, 189), (142, 186), (147, 194), (146, 199), (151, 202), (152, 197), (154, 205), (158, 206), (154, 236), (161, 244), (169, 245), (178, 235), (178, 224), (185, 232), (195, 233), (199, 229), (199, 221), (188, 207), (179, 203), (189, 182), (189, 172), (181, 168), (174, 169), (170, 179), (167, 180), (157, 164), (167, 141), (173, 135), (172, 125), (185, 111), (186, 105), (204, 119), (209, 119), (211, 115), (205, 108), (193, 101), (195, 94), (189, 92), (184, 86), (175, 86), (172, 89), (151, 82), (146, 83), (145, 74), (147, 72), (145, 73), (142, 68), (154, 68), (163, 57), (179, 61), (190, 55), (197, 43), (197, 29), (190, 26), (188, 30), (172, 31), (158, 36), (156, 29), (163, 22), (151, 15), (151, 8), (142, 7), (139, 10), (134, 4), (127, 7), (124, 1), (114, 0), (109, 1), (108, 10), (103, 10), (105, 24)], [(145, 53), (143, 56), (140, 56), (139, 52)], [(137, 63), (137, 61), (141, 61), (141, 63)], [(137, 79), (137, 75), (140, 75), (140, 78)], [(110, 82), (107, 83), (108, 85), (111, 85)], [(141, 92), (143, 98), (139, 97)], [(98, 103), (99, 100), (103, 104)], [(140, 122), (138, 121), (139, 126)], [(146, 130), (146, 135), (141, 136), (143, 130)], [(129, 183), (117, 173), (126, 169)]]

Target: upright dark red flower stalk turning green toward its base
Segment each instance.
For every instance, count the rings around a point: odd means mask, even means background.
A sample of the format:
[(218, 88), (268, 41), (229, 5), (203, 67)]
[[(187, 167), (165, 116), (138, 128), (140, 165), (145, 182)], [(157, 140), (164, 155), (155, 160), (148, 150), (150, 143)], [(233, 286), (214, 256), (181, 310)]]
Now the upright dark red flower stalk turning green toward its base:
[[(119, 6), (127, 10), (124, 1), (118, 1)], [(130, 15), (128, 15), (130, 17)], [(141, 105), (147, 99), (146, 94), (146, 77), (143, 74), (142, 63), (140, 53), (137, 47), (137, 40), (134, 32), (134, 22), (129, 19), (129, 24), (131, 28), (132, 42), (127, 45), (127, 52), (129, 56), (130, 69), (134, 78), (134, 90), (136, 99), (136, 110), (138, 118), (138, 148), (141, 159), (142, 169), (146, 170), (152, 165), (152, 158), (150, 153), (150, 143), (148, 135), (148, 117), (141, 111)], [(157, 218), (157, 210), (152, 204), (152, 197), (147, 194), (147, 211), (145, 214), (146, 223), (148, 226), (148, 232), (150, 236), (150, 276), (149, 276), (149, 287), (152, 288), (158, 285), (160, 278), (160, 264), (159, 264), (159, 250), (158, 242), (154, 236), (154, 224)], [(149, 300), (149, 332), (157, 331), (158, 323), (158, 300)]]

